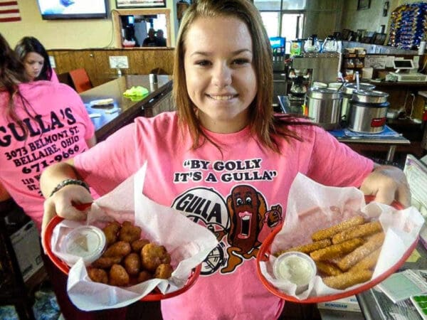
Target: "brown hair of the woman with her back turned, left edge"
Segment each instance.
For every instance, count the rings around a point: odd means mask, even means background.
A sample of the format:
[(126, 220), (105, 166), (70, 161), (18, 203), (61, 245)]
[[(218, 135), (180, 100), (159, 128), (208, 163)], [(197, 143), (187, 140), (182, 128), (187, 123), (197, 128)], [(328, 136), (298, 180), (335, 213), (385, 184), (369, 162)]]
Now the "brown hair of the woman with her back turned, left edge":
[[(9, 43), (7, 43), (6, 39), (0, 33), (0, 91), (8, 92), (6, 116), (14, 120), (26, 132), (26, 127), (23, 126), (21, 119), (19, 119), (14, 110), (14, 95), (21, 99), (24, 106), (28, 104), (19, 92), (18, 85), (21, 82), (28, 82), (25, 68), (14, 50), (11, 49)], [(28, 112), (28, 110), (26, 111)]]

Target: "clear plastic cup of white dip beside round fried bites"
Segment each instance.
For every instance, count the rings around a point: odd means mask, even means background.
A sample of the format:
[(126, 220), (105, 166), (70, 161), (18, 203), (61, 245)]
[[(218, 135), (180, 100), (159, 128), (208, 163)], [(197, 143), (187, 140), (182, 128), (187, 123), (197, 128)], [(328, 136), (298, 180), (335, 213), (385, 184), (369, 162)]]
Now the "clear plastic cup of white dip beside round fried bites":
[(70, 267), (81, 257), (85, 265), (97, 260), (105, 250), (107, 239), (100, 228), (83, 225), (75, 228), (65, 236), (60, 244), (60, 251), (66, 255), (65, 263)]

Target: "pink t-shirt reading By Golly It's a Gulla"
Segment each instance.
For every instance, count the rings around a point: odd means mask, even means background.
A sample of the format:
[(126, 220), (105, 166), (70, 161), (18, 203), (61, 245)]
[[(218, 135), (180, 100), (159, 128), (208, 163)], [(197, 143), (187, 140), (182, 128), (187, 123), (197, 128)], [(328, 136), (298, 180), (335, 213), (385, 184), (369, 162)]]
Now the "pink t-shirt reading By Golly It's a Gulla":
[(283, 300), (261, 284), (255, 257), (266, 235), (285, 218), (293, 179), (301, 172), (325, 185), (359, 187), (373, 169), (371, 160), (319, 127), (292, 129), (304, 142), (280, 139), (282, 154), (262, 148), (248, 128), (233, 134), (206, 132), (221, 145), (221, 154), (208, 142), (192, 150), (176, 114), (164, 112), (135, 119), (75, 158), (79, 174), (100, 194), (147, 161), (144, 194), (183, 211), (220, 242), (194, 287), (162, 301), (164, 319), (278, 317)]

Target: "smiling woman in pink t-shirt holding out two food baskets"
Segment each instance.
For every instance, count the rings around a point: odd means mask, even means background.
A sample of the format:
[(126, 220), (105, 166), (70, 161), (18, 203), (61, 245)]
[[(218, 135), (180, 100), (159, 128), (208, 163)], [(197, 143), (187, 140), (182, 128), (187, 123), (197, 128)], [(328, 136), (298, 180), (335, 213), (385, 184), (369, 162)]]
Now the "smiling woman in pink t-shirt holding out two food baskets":
[[(271, 61), (251, 1), (196, 1), (176, 43), (177, 112), (137, 118), (85, 154), (47, 168), (43, 225), (55, 213), (85, 218), (72, 206), (90, 197), (78, 180), (104, 194), (147, 162), (144, 195), (179, 208), (221, 242), (194, 287), (162, 301), (163, 318), (277, 319), (284, 302), (256, 272), (260, 230), (268, 228), (260, 216), (273, 207), (285, 214), (299, 172), (329, 186), (361, 187), (385, 203), (408, 205), (409, 192), (399, 169), (376, 167), (307, 119), (273, 114)], [(70, 178), (75, 184), (56, 188)]]

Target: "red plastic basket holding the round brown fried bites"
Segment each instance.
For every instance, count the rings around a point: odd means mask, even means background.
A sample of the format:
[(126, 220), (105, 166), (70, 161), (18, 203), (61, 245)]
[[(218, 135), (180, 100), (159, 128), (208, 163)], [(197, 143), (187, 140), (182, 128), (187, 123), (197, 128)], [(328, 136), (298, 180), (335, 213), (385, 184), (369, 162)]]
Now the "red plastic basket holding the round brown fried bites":
[[(90, 204), (84, 204), (84, 205), (78, 205), (75, 207), (80, 209), (80, 210), (84, 210), (85, 208), (88, 208), (89, 206), (90, 206)], [(52, 260), (52, 262), (56, 265), (56, 267), (58, 267), (59, 270), (61, 270), (65, 274), (68, 274), (68, 272), (70, 271), (70, 267), (68, 267), (68, 265), (65, 262), (63, 262), (63, 260), (60, 260), (53, 253), (52, 247), (51, 247), (51, 237), (52, 237), (53, 229), (62, 220), (63, 220), (63, 218), (60, 218), (60, 217), (58, 217), (58, 215), (56, 215), (48, 223), (48, 225), (46, 226), (45, 236), (43, 237), (43, 247), (46, 250), (46, 254)], [(194, 285), (194, 283), (196, 282), (196, 279), (199, 278), (200, 272), (201, 272), (201, 265), (198, 265), (193, 270), (191, 270), (191, 274), (190, 274), (189, 279), (187, 280), (184, 287), (182, 287), (181, 289), (178, 289), (174, 292), (170, 292), (168, 294), (162, 294), (162, 292), (160, 292), (159, 289), (155, 288), (153, 290), (153, 292), (147, 294), (147, 296), (145, 296), (145, 297), (142, 297), (141, 301), (159, 301), (159, 300), (163, 300), (163, 299), (172, 298), (172, 297), (175, 297), (175, 296), (177, 296), (183, 292), (186, 292), (188, 289), (190, 289)]]

